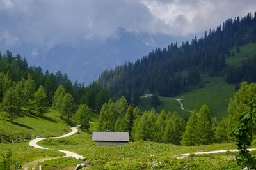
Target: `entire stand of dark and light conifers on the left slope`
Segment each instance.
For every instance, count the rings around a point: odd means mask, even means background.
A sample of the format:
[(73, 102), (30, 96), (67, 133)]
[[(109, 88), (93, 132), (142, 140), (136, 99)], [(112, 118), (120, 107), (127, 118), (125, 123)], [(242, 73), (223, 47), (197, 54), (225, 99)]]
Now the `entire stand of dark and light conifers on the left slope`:
[(67, 74), (56, 74), (41, 67), (28, 67), (25, 58), (12, 52), (0, 52), (0, 106), (12, 122), (16, 117), (33, 114), (44, 117), (53, 106), (61, 118), (73, 118), (88, 129), (90, 111), (100, 111), (110, 98), (102, 85), (96, 82), (84, 87), (77, 81), (72, 84)]

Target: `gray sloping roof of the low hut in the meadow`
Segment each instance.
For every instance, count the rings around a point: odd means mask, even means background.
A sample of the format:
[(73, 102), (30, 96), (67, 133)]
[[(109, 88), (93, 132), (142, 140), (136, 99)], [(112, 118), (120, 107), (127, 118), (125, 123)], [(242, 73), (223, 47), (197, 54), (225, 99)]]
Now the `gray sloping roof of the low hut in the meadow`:
[(129, 142), (128, 132), (92, 132), (92, 141)]

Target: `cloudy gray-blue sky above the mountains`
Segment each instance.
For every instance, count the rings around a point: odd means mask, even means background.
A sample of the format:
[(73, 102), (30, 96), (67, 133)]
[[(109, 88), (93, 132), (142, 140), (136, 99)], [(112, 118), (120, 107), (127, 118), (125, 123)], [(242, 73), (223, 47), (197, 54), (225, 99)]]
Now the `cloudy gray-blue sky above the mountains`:
[(0, 41), (51, 48), (77, 38), (104, 41), (118, 27), (191, 36), (255, 7), (255, 0), (0, 0)]

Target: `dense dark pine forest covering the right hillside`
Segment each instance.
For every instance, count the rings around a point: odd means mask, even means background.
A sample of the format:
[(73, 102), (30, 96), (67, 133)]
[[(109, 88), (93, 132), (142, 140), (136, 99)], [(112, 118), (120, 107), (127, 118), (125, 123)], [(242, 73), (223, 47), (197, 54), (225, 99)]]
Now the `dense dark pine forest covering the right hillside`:
[[(202, 76), (224, 74), (227, 83), (256, 81), (255, 59), (247, 60), (240, 67), (228, 67), (226, 57), (234, 46), (256, 41), (256, 13), (252, 16), (226, 20), (216, 29), (205, 31), (201, 38), (193, 38), (178, 46), (171, 43), (167, 48), (156, 48), (136, 62), (125, 62), (115, 69), (104, 71), (98, 82), (112, 96), (136, 99), (139, 94), (158, 92), (160, 96), (176, 96), (192, 87), (202, 87)], [(135, 102), (136, 103), (136, 102)]]

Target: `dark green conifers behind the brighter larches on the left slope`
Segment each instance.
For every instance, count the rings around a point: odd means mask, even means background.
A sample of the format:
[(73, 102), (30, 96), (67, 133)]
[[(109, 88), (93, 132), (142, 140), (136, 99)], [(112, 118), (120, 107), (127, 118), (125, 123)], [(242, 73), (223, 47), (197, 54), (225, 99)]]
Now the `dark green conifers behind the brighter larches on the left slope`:
[[(9, 50), (3, 55), (0, 52), (0, 72), (6, 75), (8, 80), (16, 83), (22, 79), (28, 80), (28, 76), (30, 76), (31, 80), (35, 81), (36, 89), (40, 86), (44, 87), (49, 104), (52, 104), (54, 92), (60, 85), (72, 95), (76, 104), (86, 103), (90, 108), (97, 111), (100, 111), (102, 104), (108, 101), (109, 97), (108, 91), (104, 90), (99, 83), (93, 82), (85, 87), (84, 83), (78, 83), (77, 81), (72, 83), (67, 74), (63, 74), (61, 71), (57, 71), (54, 74), (46, 70), (43, 73), (41, 67), (28, 67), (26, 58), (22, 58), (19, 54), (13, 57), (12, 52)], [(1, 81), (4, 81), (3, 75)], [(10, 87), (10, 85), (0, 86), (0, 101), (2, 101), (7, 87)], [(100, 94), (98, 94), (99, 92)], [(103, 97), (106, 97), (106, 100), (102, 103), (99, 98)]]

